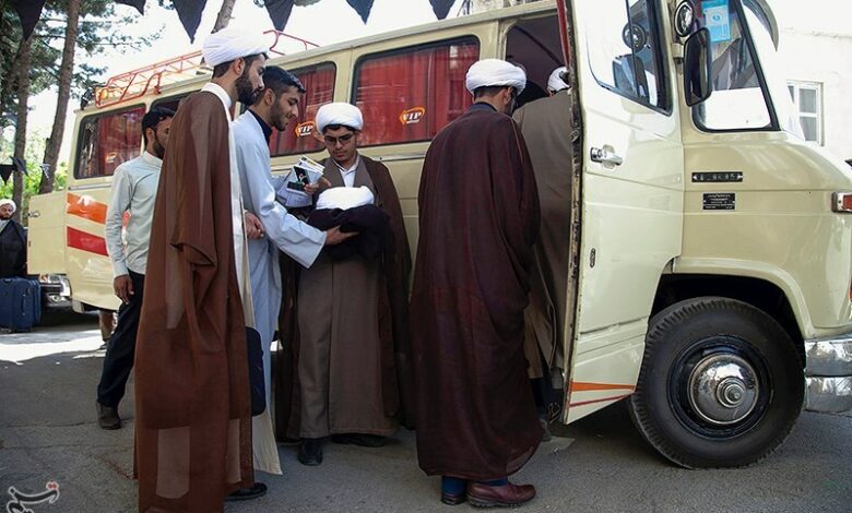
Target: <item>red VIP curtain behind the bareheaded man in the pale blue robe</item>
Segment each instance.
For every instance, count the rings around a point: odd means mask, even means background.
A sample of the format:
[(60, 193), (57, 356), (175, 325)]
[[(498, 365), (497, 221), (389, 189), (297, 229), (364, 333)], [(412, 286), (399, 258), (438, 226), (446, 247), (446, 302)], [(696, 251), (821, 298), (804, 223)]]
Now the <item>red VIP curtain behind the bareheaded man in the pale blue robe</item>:
[(299, 103), (298, 117), (287, 124), (286, 130), (279, 132), (272, 130), (269, 141), (270, 155), (293, 155), (318, 152), (324, 145), (313, 139), (313, 118), (317, 110), (334, 98), (334, 64), (324, 63), (317, 68), (297, 70), (293, 74), (305, 86), (306, 93)]

